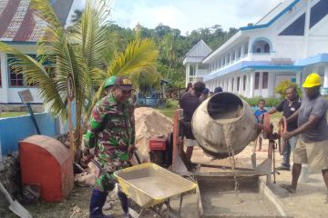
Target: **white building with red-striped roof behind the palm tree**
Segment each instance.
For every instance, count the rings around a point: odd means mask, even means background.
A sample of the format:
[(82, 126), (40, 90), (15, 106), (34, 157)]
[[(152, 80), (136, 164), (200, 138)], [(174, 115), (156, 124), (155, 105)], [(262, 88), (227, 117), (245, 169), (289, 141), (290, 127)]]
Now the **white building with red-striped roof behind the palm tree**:
[[(65, 25), (73, 0), (50, 0), (59, 21)], [(36, 54), (36, 42), (43, 35), (46, 23), (35, 15), (30, 0), (0, 0), (0, 41), (25, 54)], [(13, 60), (13, 59), (12, 59)], [(18, 92), (30, 89), (33, 104), (43, 101), (33, 84), (27, 84), (23, 74), (15, 74), (8, 63), (10, 54), (0, 52), (0, 104), (21, 104)]]

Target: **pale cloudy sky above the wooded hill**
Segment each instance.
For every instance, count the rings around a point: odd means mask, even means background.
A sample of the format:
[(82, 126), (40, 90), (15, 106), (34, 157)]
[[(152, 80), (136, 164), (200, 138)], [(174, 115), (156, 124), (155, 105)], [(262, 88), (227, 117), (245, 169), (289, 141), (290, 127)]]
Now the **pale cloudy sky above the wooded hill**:
[[(111, 20), (123, 27), (138, 23), (147, 28), (169, 25), (181, 35), (198, 28), (221, 25), (224, 30), (256, 23), (283, 0), (107, 0)], [(82, 9), (85, 0), (75, 0), (72, 11)]]

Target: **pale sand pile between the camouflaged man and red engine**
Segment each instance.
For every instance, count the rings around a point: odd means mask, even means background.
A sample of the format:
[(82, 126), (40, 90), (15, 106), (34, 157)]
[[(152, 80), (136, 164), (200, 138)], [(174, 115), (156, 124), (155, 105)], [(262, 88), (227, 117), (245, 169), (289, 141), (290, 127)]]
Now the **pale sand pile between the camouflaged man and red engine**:
[(142, 159), (149, 161), (149, 138), (167, 136), (173, 131), (173, 122), (165, 115), (149, 107), (138, 107), (135, 110), (136, 145)]

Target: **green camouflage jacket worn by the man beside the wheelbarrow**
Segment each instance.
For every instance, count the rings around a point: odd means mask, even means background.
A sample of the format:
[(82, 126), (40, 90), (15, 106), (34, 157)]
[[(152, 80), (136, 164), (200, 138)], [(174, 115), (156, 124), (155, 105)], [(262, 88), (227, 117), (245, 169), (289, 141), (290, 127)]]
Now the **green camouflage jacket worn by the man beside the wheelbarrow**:
[(135, 126), (131, 104), (118, 104), (113, 94), (103, 97), (92, 110), (87, 134), (87, 148), (97, 148), (98, 158), (128, 160), (128, 146), (134, 144)]

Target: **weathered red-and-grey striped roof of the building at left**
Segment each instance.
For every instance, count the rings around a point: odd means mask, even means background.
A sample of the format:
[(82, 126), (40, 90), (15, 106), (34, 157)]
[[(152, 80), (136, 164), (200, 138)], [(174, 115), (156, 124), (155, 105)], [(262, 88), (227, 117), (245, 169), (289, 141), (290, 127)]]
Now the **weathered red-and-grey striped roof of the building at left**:
[(0, 0), (0, 41), (36, 42), (46, 22), (34, 15), (30, 0)]

